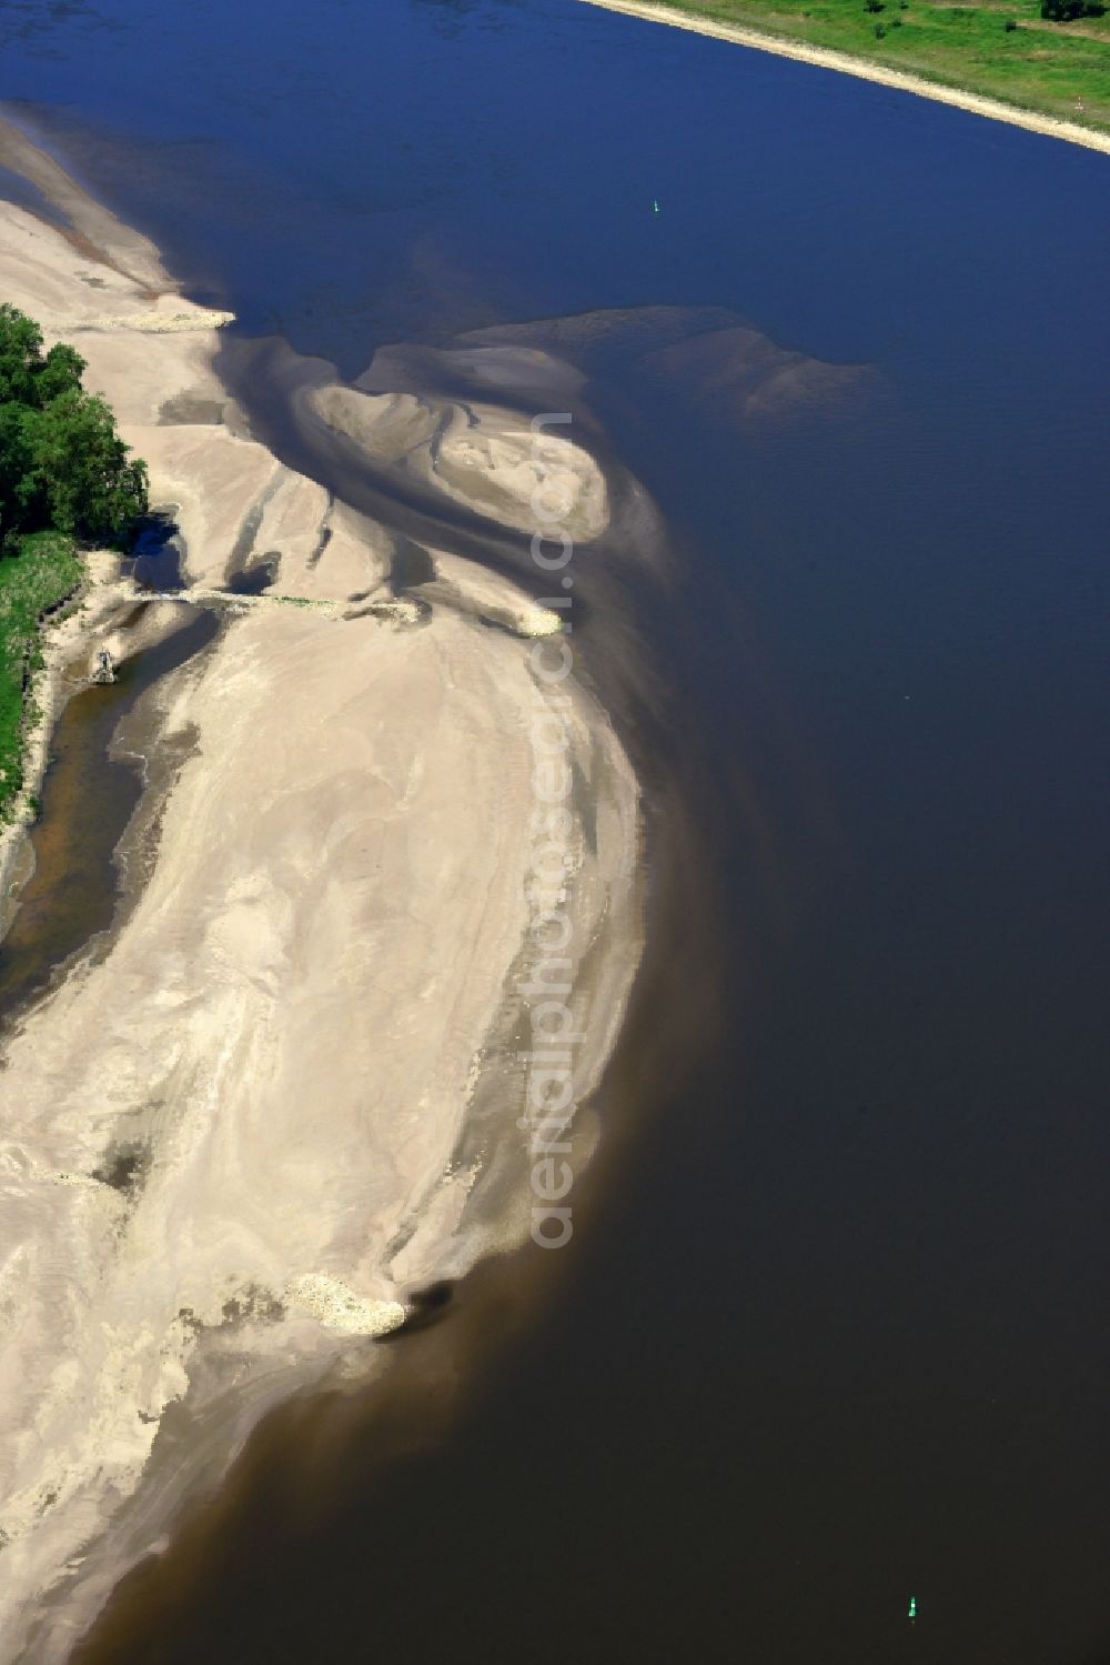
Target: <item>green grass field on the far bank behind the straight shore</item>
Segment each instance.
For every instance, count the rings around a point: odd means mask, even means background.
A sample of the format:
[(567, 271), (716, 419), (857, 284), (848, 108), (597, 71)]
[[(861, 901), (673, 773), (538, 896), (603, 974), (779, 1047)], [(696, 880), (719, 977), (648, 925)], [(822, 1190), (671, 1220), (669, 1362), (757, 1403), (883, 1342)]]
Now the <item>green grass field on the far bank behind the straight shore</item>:
[[(1048, 23), (1038, 0), (885, 0), (879, 12), (869, 12), (864, 0), (662, 3), (1110, 132), (1110, 10), (1078, 23)], [(1007, 30), (1007, 20), (1017, 27)]]

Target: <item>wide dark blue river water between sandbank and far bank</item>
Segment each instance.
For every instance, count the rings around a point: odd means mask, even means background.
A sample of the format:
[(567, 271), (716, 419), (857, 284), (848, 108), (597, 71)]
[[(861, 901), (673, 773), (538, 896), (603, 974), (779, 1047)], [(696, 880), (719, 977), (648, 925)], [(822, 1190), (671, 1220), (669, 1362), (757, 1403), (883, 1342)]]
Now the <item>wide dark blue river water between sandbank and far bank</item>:
[(627, 714), (694, 826), (642, 1116), (446, 1439), (353, 1439), (310, 1513), (271, 1442), (100, 1657), (1110, 1658), (1110, 162), (572, 0), (0, 32), (245, 335), (353, 375), (717, 305), (880, 386), (776, 430), (594, 358), (684, 574)]

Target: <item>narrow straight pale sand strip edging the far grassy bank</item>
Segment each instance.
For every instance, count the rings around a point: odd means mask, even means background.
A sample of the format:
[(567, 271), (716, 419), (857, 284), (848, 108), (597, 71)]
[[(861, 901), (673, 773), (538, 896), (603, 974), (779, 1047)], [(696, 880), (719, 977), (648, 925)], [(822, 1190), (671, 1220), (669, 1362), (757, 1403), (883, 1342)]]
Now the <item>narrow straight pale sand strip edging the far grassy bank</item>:
[(717, 23), (709, 17), (676, 12), (666, 5), (652, 5), (651, 0), (584, 0), (584, 3), (602, 7), (606, 12), (626, 12), (629, 17), (639, 17), (649, 23), (669, 23), (671, 28), (684, 28), (694, 35), (729, 40), (734, 47), (772, 52), (779, 58), (812, 63), (820, 70), (837, 70), (840, 75), (854, 75), (857, 80), (875, 82), (879, 87), (892, 87), (895, 92), (914, 93), (917, 98), (932, 98), (935, 103), (952, 105), (957, 110), (967, 110), (970, 115), (980, 115), (990, 122), (1007, 122), (1010, 127), (1023, 127), (1028, 133), (1062, 138), (1068, 145), (1082, 145), (1085, 150), (1098, 150), (1103, 155), (1110, 155), (1110, 133), (1095, 133), (1092, 128), (1080, 127), (1075, 122), (1037, 115), (1035, 110), (1022, 110), (1018, 105), (1008, 105), (999, 98), (985, 98), (980, 93), (962, 92), (959, 87), (945, 87), (917, 75), (905, 75), (900, 70), (889, 70), (882, 63), (869, 63), (865, 58), (854, 58), (847, 52), (834, 52), (829, 47), (810, 47), (804, 40), (766, 35), (734, 23)]

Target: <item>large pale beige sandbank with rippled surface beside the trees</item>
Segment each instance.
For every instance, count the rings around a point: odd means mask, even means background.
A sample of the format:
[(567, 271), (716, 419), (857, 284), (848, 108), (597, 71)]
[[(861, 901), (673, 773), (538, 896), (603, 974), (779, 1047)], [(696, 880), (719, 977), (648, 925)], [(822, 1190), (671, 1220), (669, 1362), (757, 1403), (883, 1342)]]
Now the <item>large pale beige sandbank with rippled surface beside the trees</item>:
[[(275, 593), (323, 603), (225, 606), (203, 659), (150, 691), (145, 724), (186, 761), (141, 891), (110, 952), (5, 1044), (2, 1657), (50, 1665), (200, 1477), (181, 1419), (218, 1480), (270, 1405), (364, 1380), (366, 1339), (416, 1290), (528, 1235), (516, 1047), (553, 733), (576, 783), (559, 906), (579, 1099), (642, 946), (639, 793), (596, 699), (538, 671), (556, 659), (534, 653), (557, 656), (549, 609), (439, 551), (398, 604), (388, 529), (250, 438), (213, 371), (223, 315), (23, 135), (0, 133), (0, 160), (77, 226), (0, 205), (0, 293), (88, 360), (180, 528), (193, 599), (266, 559)], [(419, 466), (524, 526), (519, 423), (491, 428)], [(592, 463), (553, 440), (544, 468), (589, 493), (589, 533)], [(133, 589), (102, 579), (57, 658), (123, 649)], [(191, 609), (158, 608), (160, 628), (175, 611)], [(471, 1205), (488, 1167), (518, 1175), (493, 1212)]]

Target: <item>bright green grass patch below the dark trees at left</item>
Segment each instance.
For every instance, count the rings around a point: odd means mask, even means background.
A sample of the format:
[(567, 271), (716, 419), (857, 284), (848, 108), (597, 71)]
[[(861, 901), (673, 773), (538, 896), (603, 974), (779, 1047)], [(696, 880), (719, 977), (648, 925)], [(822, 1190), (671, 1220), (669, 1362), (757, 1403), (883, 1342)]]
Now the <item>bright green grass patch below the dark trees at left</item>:
[(42, 666), (38, 616), (82, 579), (73, 541), (57, 531), (25, 538), (0, 559), (0, 821), (23, 786), (23, 669)]

